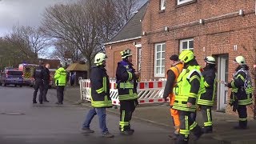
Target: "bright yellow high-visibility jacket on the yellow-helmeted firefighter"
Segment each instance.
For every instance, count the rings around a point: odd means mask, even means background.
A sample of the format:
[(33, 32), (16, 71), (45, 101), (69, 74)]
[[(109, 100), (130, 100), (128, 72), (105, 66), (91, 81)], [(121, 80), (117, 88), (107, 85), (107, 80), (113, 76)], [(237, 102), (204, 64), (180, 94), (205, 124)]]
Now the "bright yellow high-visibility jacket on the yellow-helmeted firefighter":
[[(205, 92), (200, 66), (188, 66), (178, 76), (173, 109), (194, 112), (198, 96)], [(187, 102), (192, 106), (187, 107)]]

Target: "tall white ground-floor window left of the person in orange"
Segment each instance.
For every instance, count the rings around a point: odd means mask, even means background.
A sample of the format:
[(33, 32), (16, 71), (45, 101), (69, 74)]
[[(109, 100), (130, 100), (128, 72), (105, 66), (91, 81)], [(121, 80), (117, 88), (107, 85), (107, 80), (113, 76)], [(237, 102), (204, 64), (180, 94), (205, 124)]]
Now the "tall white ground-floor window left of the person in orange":
[(154, 77), (165, 76), (166, 44), (157, 43), (154, 46)]

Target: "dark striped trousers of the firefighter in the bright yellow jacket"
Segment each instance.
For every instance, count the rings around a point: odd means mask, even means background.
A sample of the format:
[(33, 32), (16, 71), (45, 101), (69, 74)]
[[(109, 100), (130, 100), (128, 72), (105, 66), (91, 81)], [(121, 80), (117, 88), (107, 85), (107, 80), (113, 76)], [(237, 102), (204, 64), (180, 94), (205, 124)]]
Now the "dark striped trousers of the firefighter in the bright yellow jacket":
[(200, 126), (197, 122), (191, 118), (191, 113), (189, 111), (178, 110), (180, 124), (180, 133), (176, 140), (176, 144), (187, 144), (189, 142), (190, 131), (196, 136), (202, 134)]

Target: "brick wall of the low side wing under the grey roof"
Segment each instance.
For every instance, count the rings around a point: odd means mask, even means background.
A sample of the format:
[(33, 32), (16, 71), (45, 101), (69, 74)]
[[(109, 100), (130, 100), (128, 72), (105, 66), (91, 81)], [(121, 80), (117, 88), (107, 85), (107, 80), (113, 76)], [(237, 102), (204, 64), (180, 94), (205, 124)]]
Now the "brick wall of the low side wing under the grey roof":
[(133, 54), (133, 64), (134, 64), (134, 69), (138, 70), (138, 64), (136, 62), (138, 62), (136, 60), (136, 55), (137, 55), (137, 49), (134, 46), (134, 44), (138, 44), (140, 43), (140, 39), (136, 39), (133, 41), (127, 41), (127, 42), (118, 42), (115, 44), (111, 44), (111, 45), (106, 45), (106, 55), (107, 55), (107, 60), (106, 60), (106, 70), (107, 70), (107, 74), (109, 75), (110, 78), (115, 78), (115, 71), (117, 69), (117, 64), (118, 62), (122, 61), (122, 57), (120, 52), (122, 50), (126, 50), (127, 48), (129, 48), (130, 50), (132, 50), (132, 54)]

